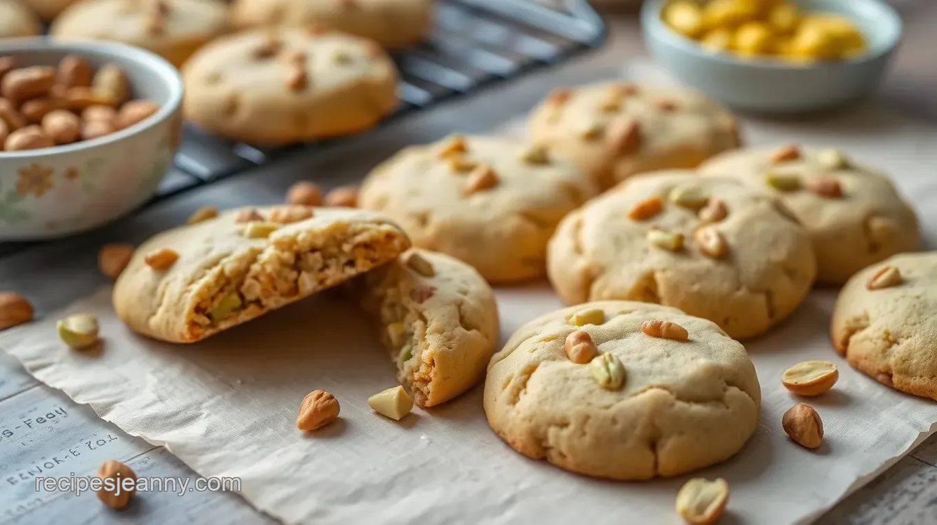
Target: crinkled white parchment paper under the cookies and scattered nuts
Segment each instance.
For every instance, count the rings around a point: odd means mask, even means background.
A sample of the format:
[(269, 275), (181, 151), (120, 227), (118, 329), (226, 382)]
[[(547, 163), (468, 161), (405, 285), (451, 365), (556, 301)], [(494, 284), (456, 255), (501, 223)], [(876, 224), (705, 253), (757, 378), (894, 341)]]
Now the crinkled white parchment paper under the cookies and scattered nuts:
[[(885, 166), (915, 203), (933, 247), (937, 130), (874, 106), (813, 119), (749, 121), (749, 143), (836, 145)], [(894, 463), (935, 429), (937, 403), (893, 391), (833, 352), (827, 325), (835, 290), (820, 290), (766, 337), (746, 344), (763, 391), (761, 421), (729, 461), (692, 476), (724, 477), (732, 496), (723, 523), (809, 522)], [(498, 290), (502, 341), (560, 307), (545, 284)], [(677, 524), (674, 496), (691, 476), (616, 483), (563, 472), (501, 443), (487, 427), (481, 389), (401, 422), (366, 399), (394, 384), (394, 368), (369, 324), (340, 295), (285, 308), (194, 346), (138, 338), (112, 314), (110, 290), (69, 312), (94, 313), (100, 353), (69, 351), (49, 316), (0, 335), (0, 348), (37, 379), (90, 404), (128, 434), (165, 444), (203, 476), (237, 476), (242, 494), (287, 523)], [(788, 440), (781, 414), (798, 399), (783, 369), (805, 359), (840, 366), (840, 382), (809, 402), (825, 445)], [(341, 419), (312, 435), (295, 428), (302, 398), (329, 390)]]

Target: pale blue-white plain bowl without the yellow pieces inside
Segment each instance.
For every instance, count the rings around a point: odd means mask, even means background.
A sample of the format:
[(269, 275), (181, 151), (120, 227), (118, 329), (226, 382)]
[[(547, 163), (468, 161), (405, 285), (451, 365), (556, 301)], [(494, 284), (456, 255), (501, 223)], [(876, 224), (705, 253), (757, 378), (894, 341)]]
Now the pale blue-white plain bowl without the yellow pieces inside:
[(641, 11), (645, 42), (654, 59), (686, 83), (723, 104), (756, 113), (808, 113), (845, 105), (878, 85), (901, 37), (901, 19), (882, 0), (797, 0), (807, 11), (840, 13), (869, 41), (855, 58), (794, 64), (708, 52), (661, 20), (665, 0)]

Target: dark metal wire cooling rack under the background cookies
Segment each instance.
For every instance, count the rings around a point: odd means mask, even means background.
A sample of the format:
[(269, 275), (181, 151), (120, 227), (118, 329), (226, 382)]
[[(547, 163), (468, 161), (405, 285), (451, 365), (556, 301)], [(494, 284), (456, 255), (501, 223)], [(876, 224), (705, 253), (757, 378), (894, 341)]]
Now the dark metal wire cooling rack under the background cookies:
[[(605, 38), (602, 19), (586, 0), (438, 0), (436, 5), (432, 34), (394, 53), (400, 105), (383, 124), (568, 60)], [(331, 142), (258, 147), (186, 125), (175, 162), (147, 205), (273, 163), (300, 148), (314, 155)], [(33, 244), (0, 243), (0, 257)]]

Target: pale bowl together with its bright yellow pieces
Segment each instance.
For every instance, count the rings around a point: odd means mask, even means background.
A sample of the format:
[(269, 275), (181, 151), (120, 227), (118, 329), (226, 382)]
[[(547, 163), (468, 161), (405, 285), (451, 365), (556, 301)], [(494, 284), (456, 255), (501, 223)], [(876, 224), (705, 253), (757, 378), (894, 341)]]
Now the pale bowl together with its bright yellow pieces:
[(900, 43), (884, 0), (648, 0), (647, 48), (678, 80), (755, 113), (808, 113), (872, 91)]

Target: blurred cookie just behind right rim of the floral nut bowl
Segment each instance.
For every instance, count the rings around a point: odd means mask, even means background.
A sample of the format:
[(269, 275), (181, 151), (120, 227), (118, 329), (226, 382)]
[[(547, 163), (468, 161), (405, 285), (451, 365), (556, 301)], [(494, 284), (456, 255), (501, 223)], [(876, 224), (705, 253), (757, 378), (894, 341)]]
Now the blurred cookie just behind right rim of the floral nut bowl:
[(227, 26), (228, 6), (218, 0), (83, 0), (55, 19), (51, 34), (124, 42), (179, 67)]

